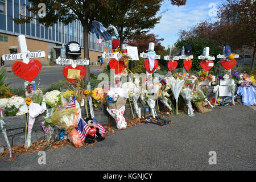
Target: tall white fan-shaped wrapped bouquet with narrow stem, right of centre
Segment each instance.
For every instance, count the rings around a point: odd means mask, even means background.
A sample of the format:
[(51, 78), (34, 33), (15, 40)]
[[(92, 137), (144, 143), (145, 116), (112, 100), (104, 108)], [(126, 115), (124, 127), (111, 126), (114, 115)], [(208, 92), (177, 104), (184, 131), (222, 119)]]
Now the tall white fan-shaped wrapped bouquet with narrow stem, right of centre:
[(167, 80), (168, 84), (170, 85), (170, 88), (172, 90), (172, 93), (174, 94), (175, 101), (176, 101), (176, 114), (178, 113), (178, 98), (180, 95), (180, 91), (182, 89), (182, 86), (184, 85), (185, 80), (177, 77), (176, 79), (171, 76), (170, 79)]

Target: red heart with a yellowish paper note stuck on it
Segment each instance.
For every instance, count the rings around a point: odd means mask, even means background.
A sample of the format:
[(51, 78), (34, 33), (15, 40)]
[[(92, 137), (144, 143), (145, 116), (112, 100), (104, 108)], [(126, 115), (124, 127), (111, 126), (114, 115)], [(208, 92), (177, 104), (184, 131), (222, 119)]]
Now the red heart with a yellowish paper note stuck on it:
[(85, 76), (86, 68), (83, 65), (79, 65), (76, 68), (67, 65), (63, 68), (62, 72), (65, 78), (72, 83), (76, 81), (76, 77), (83, 78)]

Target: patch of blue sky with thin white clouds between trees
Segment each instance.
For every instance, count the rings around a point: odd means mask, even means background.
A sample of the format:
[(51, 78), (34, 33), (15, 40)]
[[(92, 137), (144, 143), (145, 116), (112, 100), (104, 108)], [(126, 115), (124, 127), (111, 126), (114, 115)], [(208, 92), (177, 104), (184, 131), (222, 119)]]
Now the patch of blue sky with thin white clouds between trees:
[(155, 24), (155, 28), (148, 34), (158, 35), (158, 39), (163, 38), (162, 46), (166, 48), (168, 45), (172, 46), (179, 38), (179, 30), (189, 30), (189, 27), (206, 19), (214, 20), (214, 9), (224, 2), (224, 0), (187, 0), (185, 6), (178, 7), (165, 0), (158, 14), (167, 11), (162, 14), (160, 23)]

